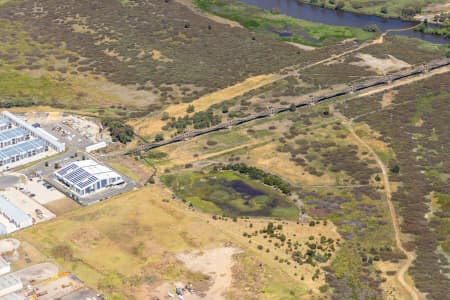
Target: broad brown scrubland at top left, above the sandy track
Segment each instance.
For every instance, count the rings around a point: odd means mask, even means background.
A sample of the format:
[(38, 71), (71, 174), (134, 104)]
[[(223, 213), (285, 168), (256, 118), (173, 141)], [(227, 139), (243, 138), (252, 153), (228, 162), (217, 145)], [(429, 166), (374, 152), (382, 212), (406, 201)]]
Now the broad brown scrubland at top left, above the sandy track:
[[(44, 0), (39, 6), (45, 18), (30, 0), (2, 5), (0, 62), (21, 70), (45, 70), (68, 83), (74, 78), (86, 80), (86, 75), (98, 79), (99, 85), (114, 83), (131, 92), (138, 90), (149, 99), (147, 102), (145, 97), (141, 110), (136, 111), (145, 115), (164, 104), (189, 102), (252, 75), (304, 61), (299, 59), (299, 49), (272, 38), (254, 40), (248, 31), (212, 22), (176, 1), (112, 0), (102, 2), (101, 10), (97, 5), (91, 1), (63, 4)], [(149, 31), (154, 34), (148, 35)], [(42, 51), (44, 46), (51, 51)], [(22, 51), (26, 56), (18, 59)], [(106, 82), (100, 80), (105, 78)], [(87, 85), (96, 90), (92, 82)], [(100, 91), (104, 90), (100, 86)], [(91, 92), (95, 91), (87, 93)], [(133, 98), (112, 95), (122, 96)], [(84, 101), (74, 104), (95, 104), (86, 97), (81, 99)], [(108, 100), (103, 106), (110, 104)], [(120, 103), (123, 110), (136, 109), (137, 104), (129, 102), (133, 105)]]

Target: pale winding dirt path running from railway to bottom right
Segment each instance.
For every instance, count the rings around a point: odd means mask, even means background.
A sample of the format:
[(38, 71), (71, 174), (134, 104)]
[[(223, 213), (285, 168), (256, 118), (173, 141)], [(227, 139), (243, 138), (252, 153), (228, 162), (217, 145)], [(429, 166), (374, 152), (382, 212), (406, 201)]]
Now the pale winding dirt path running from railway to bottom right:
[(417, 288), (413, 284), (408, 283), (405, 280), (405, 273), (408, 271), (409, 267), (412, 265), (416, 256), (414, 253), (406, 251), (406, 249), (403, 247), (402, 241), (400, 239), (400, 234), (401, 234), (400, 225), (399, 225), (398, 216), (395, 211), (394, 204), (392, 203), (392, 192), (391, 192), (391, 186), (389, 183), (389, 173), (388, 173), (387, 167), (383, 163), (383, 161), (380, 159), (380, 157), (376, 154), (376, 152), (372, 149), (372, 147), (370, 147), (369, 144), (367, 144), (363, 139), (361, 139), (356, 134), (356, 132), (353, 130), (351, 121), (348, 120), (345, 116), (343, 116), (339, 112), (335, 112), (335, 114), (337, 116), (340, 116), (344, 120), (343, 125), (352, 134), (352, 136), (358, 141), (358, 143), (360, 143), (365, 148), (367, 148), (367, 150), (370, 152), (370, 154), (376, 160), (379, 168), (381, 169), (381, 172), (383, 174), (384, 190), (386, 192), (386, 201), (387, 201), (387, 204), (389, 207), (389, 212), (391, 215), (392, 227), (394, 229), (395, 244), (396, 244), (397, 248), (406, 256), (406, 260), (404, 261), (400, 270), (398, 270), (398, 272), (397, 272), (397, 275), (396, 275), (397, 280), (403, 286), (403, 288), (408, 292), (411, 299), (413, 299), (413, 300), (425, 299), (425, 297), (417, 290)]

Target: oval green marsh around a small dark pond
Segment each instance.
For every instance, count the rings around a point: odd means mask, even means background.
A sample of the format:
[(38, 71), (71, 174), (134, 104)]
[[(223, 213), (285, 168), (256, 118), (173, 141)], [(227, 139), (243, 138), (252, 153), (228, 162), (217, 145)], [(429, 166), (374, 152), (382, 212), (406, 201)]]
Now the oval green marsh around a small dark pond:
[(285, 196), (234, 172), (182, 173), (161, 179), (180, 198), (213, 214), (298, 217), (297, 208)]

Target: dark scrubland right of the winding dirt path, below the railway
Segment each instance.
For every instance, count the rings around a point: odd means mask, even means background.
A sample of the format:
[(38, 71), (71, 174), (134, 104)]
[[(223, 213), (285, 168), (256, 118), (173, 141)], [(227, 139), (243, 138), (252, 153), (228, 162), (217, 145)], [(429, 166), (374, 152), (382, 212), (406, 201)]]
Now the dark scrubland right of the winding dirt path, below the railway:
[[(402, 231), (413, 237), (408, 247), (417, 255), (409, 273), (422, 292), (436, 299), (448, 295), (450, 284), (449, 261), (441, 253), (449, 249), (449, 81), (446, 73), (403, 86), (398, 89), (396, 105), (361, 117), (363, 106), (379, 108), (382, 94), (350, 100), (339, 108), (347, 117), (366, 122), (394, 150), (395, 162), (390, 166), (398, 165), (393, 171), (399, 172), (391, 174), (390, 180), (401, 185), (392, 198), (400, 207)], [(418, 117), (421, 122), (413, 124), (411, 120)]]

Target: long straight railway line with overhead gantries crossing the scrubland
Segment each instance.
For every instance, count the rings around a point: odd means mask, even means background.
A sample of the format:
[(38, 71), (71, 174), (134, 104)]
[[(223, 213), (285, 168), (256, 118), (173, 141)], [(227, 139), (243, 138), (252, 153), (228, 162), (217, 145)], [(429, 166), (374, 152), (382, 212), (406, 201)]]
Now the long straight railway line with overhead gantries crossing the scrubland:
[[(324, 101), (327, 101), (327, 100), (330, 100), (333, 98), (352, 94), (355, 92), (359, 92), (359, 91), (366, 90), (369, 88), (377, 87), (380, 85), (389, 85), (395, 81), (405, 79), (408, 77), (417, 76), (419, 74), (428, 73), (433, 70), (440, 69), (440, 68), (443, 68), (443, 67), (446, 67), (449, 65), (450, 65), (450, 58), (433, 60), (433, 61), (416, 66), (416, 67), (408, 69), (408, 70), (400, 71), (400, 72), (393, 73), (393, 74), (388, 74), (386, 76), (382, 76), (382, 77), (376, 78), (376, 79), (371, 79), (371, 80), (368, 80), (368, 81), (360, 83), (360, 84), (349, 85), (348, 87), (346, 87), (342, 90), (334, 91), (329, 94), (320, 95), (320, 96), (318, 96), (318, 95), (315, 96), (314, 94), (310, 94), (309, 99), (300, 101), (298, 103), (294, 103), (294, 105), (297, 108), (314, 105), (314, 104), (324, 102)], [(144, 143), (144, 144), (141, 144), (136, 149), (126, 152), (125, 154), (126, 155), (138, 154), (142, 151), (148, 151), (148, 150), (159, 148), (159, 147), (166, 146), (169, 144), (179, 143), (179, 142), (182, 142), (182, 141), (185, 141), (185, 140), (197, 137), (197, 136), (205, 135), (205, 134), (208, 134), (211, 132), (229, 129), (231, 127), (238, 126), (238, 125), (241, 125), (244, 123), (248, 123), (253, 120), (263, 119), (263, 118), (273, 116), (275, 114), (289, 111), (289, 110), (291, 110), (291, 107), (292, 107), (292, 104), (289, 106), (282, 106), (282, 107), (268, 107), (263, 112), (253, 114), (253, 115), (250, 115), (245, 118), (231, 119), (231, 120), (228, 120), (226, 122), (223, 122), (223, 123), (218, 124), (213, 127), (188, 131), (188, 132), (179, 134), (173, 138), (170, 138), (170, 139), (167, 139), (164, 141), (160, 141), (160, 142)]]

